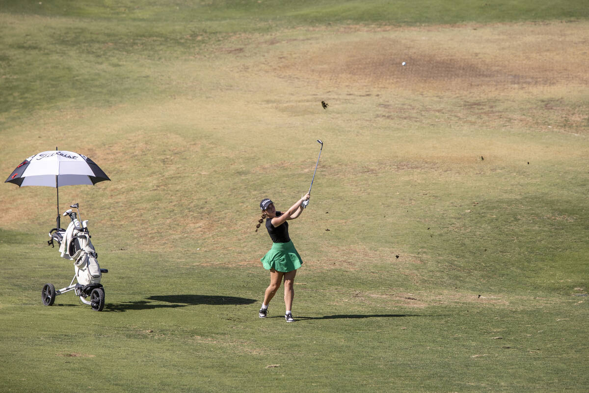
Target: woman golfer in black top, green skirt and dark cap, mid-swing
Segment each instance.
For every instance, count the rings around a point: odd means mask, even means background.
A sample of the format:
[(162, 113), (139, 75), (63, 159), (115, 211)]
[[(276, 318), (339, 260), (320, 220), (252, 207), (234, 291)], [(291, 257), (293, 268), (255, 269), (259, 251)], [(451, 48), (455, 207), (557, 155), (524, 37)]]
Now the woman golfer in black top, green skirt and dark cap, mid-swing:
[(274, 203), (270, 199), (266, 198), (260, 202), (262, 218), (259, 220), (257, 228), (266, 219), (266, 229), (270, 239), (272, 239), (272, 249), (261, 259), (264, 269), (270, 270), (270, 285), (264, 293), (264, 302), (259, 313), (260, 318), (266, 318), (268, 304), (276, 295), (278, 288), (280, 288), (280, 282), (284, 280), (284, 305), (286, 306), (284, 319), (286, 319), (286, 322), (294, 321), (291, 312), (294, 298), (294, 276), (296, 276), (296, 269), (299, 269), (303, 260), (300, 259), (299, 253), (290, 240), (289, 223), (286, 221), (299, 217), (300, 213), (305, 210), (302, 203), (309, 200), (309, 198), (310, 195), (306, 194), (286, 212), (277, 212)]

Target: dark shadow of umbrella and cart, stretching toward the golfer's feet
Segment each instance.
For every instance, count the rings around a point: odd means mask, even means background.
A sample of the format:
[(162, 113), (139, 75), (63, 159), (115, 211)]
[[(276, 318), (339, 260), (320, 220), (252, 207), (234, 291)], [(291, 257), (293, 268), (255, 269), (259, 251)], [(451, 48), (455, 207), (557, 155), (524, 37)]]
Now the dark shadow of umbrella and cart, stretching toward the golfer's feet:
[[(157, 304), (153, 302), (166, 302), (170, 304)], [(213, 296), (213, 295), (154, 295), (147, 300), (125, 303), (107, 303), (104, 311), (128, 311), (128, 310), (153, 310), (158, 308), (178, 308), (195, 306), (200, 304), (208, 305), (246, 305), (256, 302), (254, 299), (236, 298), (235, 296)]]

